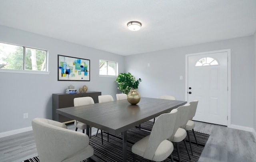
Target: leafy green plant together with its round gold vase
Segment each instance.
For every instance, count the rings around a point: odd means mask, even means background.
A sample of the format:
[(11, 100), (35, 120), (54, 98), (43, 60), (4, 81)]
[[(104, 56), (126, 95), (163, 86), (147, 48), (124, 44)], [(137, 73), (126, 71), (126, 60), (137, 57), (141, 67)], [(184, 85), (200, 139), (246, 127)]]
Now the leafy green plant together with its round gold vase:
[(116, 77), (115, 82), (118, 84), (118, 90), (127, 94), (127, 100), (130, 104), (138, 104), (140, 102), (140, 94), (137, 88), (142, 80), (136, 78), (130, 73), (120, 73)]

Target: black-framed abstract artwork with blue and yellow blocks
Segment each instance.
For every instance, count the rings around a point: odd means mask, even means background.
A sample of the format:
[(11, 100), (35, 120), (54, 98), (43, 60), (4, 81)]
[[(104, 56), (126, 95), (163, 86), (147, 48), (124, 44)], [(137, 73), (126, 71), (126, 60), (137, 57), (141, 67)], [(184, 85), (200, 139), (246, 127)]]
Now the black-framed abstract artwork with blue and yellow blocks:
[(58, 81), (90, 81), (90, 60), (58, 55)]

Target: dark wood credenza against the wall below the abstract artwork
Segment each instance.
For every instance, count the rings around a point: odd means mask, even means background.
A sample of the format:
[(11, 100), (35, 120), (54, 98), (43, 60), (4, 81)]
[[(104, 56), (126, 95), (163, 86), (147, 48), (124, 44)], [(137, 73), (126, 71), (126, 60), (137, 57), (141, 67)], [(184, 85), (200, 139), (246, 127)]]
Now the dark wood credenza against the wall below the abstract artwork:
[(94, 103), (98, 103), (98, 96), (101, 92), (91, 91), (86, 93), (76, 93), (76, 94), (66, 94), (66, 93), (56, 93), (52, 94), (52, 119), (58, 122), (72, 122), (73, 120), (56, 113), (58, 108), (68, 108), (74, 106), (74, 98), (77, 97), (92, 97)]

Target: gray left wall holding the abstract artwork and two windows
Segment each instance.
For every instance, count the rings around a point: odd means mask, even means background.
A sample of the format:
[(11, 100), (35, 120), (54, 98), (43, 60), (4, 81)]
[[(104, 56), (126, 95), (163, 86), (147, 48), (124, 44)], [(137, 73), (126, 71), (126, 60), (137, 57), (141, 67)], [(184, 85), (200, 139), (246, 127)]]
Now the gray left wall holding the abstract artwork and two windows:
[[(118, 92), (114, 77), (99, 77), (99, 59), (118, 62), (124, 72), (124, 56), (40, 36), (22, 30), (0, 26), (0, 42), (48, 50), (50, 74), (21, 74), (0, 72), (0, 132), (31, 126), (36, 117), (52, 118), (52, 94), (63, 93), (70, 84), (79, 89), (101, 91), (115, 98)], [(57, 55), (90, 59), (90, 82), (57, 81)], [(23, 113), (28, 112), (28, 119)]]

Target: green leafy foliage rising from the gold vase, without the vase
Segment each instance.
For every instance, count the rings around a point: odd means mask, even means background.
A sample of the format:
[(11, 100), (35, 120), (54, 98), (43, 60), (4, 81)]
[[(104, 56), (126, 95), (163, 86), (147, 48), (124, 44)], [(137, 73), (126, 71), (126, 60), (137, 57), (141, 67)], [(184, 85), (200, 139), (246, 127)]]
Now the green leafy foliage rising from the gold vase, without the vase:
[(117, 89), (120, 90), (122, 93), (128, 94), (133, 89), (138, 89), (138, 85), (142, 80), (136, 78), (130, 73), (119, 73), (116, 77), (115, 82), (117, 83)]

